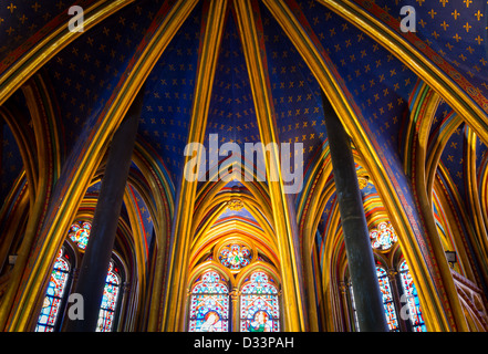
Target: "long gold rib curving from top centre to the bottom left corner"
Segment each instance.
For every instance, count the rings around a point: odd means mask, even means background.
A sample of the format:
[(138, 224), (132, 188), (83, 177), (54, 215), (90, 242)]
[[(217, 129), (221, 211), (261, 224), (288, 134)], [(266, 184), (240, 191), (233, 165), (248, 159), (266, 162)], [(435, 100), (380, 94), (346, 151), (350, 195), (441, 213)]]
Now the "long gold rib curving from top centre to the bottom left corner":
[(60, 202), (59, 211), (51, 222), (33, 269), (23, 289), (20, 291), (18, 300), (20, 305), (13, 309), (12, 320), (8, 331), (17, 332), (28, 330), (28, 314), (32, 312), (38, 291), (42, 289), (43, 280), (46, 279), (46, 274), (51, 271), (51, 264), (45, 260), (54, 259), (54, 254), (64, 239), (63, 230), (68, 228), (83, 198), (83, 194), (101, 162), (101, 156), (104, 155), (107, 147), (106, 143), (110, 140), (121, 119), (125, 116), (126, 110), (128, 110), (135, 94), (149, 75), (152, 67), (154, 67), (170, 40), (187, 19), (196, 2), (197, 0), (180, 0), (165, 17), (156, 33), (137, 59), (133, 71), (118, 91), (116, 98), (103, 118), (100, 129), (90, 140), (86, 153), (82, 157), (79, 168), (66, 188), (63, 200)]

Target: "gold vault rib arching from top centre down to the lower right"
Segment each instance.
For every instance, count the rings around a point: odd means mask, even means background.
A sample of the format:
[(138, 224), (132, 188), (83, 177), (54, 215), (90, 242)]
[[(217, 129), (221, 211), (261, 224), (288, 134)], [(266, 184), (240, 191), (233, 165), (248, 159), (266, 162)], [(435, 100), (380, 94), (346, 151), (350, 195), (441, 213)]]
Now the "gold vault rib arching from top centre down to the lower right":
[[(334, 4), (335, 2), (333, 1)], [(418, 277), (419, 281), (417, 283), (423, 294), (422, 302), (429, 304), (424, 306), (432, 313), (432, 319), (430, 315), (426, 315), (429, 325), (438, 330), (451, 327), (454, 323), (449, 323), (448, 315), (450, 309), (446, 303), (438, 301), (433, 277), (426, 266), (426, 260), (430, 260), (432, 256), (425, 250), (425, 247), (420, 248), (425, 242), (420, 231), (422, 225), (408, 209), (406, 196), (399, 188), (395, 188), (399, 185), (398, 177), (391, 170), (390, 163), (378, 156), (377, 149), (380, 147), (372, 140), (373, 135), (370, 134), (367, 124), (354, 98), (345, 87), (344, 81), (333, 69), (333, 63), (318, 37), (308, 25), (299, 7), (291, 9), (276, 0), (264, 0), (264, 4), (310, 67), (338, 116), (343, 122), (355, 147), (361, 152), (364, 167), (372, 174), (377, 191), (388, 210), (390, 219), (398, 232), (405, 257), (408, 258), (409, 264), (415, 269), (415, 274)]]

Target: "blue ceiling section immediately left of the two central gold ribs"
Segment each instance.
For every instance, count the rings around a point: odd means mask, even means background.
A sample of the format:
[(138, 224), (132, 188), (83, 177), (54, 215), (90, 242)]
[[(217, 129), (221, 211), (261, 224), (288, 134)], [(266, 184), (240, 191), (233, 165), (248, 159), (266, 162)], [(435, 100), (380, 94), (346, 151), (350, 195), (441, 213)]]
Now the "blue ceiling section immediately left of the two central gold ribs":
[(201, 6), (163, 53), (146, 82), (139, 135), (157, 152), (173, 181), (181, 178), (198, 66)]

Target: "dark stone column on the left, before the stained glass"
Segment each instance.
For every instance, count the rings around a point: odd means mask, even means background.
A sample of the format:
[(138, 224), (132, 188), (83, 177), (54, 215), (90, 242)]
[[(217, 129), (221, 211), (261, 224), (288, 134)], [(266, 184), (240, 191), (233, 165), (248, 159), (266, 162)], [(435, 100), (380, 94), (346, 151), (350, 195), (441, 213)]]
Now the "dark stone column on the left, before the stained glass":
[(93, 217), (89, 243), (73, 293), (83, 299), (83, 320), (68, 319), (68, 332), (95, 332), (103, 289), (117, 231), (144, 97), (141, 88), (115, 132)]

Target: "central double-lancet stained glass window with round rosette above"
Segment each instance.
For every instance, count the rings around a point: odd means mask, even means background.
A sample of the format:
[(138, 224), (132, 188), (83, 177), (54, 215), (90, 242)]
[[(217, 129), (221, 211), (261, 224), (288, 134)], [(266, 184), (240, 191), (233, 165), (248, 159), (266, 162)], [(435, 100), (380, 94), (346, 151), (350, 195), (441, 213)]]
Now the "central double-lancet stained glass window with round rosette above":
[[(206, 266), (200, 263), (203, 270), (189, 288), (188, 331), (280, 331), (279, 284), (262, 269), (268, 261), (255, 244), (226, 238), (214, 247), (212, 256), (205, 256)], [(256, 269), (242, 273), (252, 264)]]

